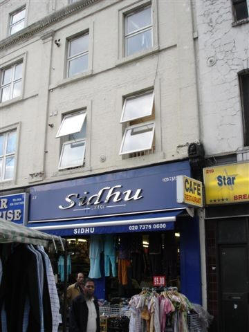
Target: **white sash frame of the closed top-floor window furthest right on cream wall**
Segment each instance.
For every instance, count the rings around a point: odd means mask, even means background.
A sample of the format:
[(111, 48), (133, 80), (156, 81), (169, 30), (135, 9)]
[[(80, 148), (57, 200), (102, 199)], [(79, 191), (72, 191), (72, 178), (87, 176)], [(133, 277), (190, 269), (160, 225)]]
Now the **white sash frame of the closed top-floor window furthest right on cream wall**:
[[(134, 30), (131, 33), (127, 33), (126, 32), (127, 31), (127, 18), (134, 15), (134, 14), (136, 14), (137, 12), (142, 12), (142, 10), (145, 10), (147, 8), (151, 8), (151, 24), (149, 26), (144, 26), (142, 28)], [(147, 4), (147, 6), (145, 5), (145, 6), (139, 7), (137, 9), (134, 9), (132, 12), (128, 12), (127, 14), (124, 15), (124, 57), (130, 57), (132, 55), (135, 55), (136, 53), (146, 52), (147, 50), (153, 48), (153, 46), (154, 46), (154, 29), (153, 29), (154, 19), (153, 19), (152, 10), (153, 10), (152, 9), (152, 4), (149, 3), (149, 4)], [(127, 54), (127, 39), (129, 39), (129, 37), (139, 35), (140, 33), (146, 32), (146, 31), (149, 31), (149, 30), (151, 30), (151, 46), (149, 48), (141, 49), (141, 50), (138, 50), (138, 51), (128, 55)]]

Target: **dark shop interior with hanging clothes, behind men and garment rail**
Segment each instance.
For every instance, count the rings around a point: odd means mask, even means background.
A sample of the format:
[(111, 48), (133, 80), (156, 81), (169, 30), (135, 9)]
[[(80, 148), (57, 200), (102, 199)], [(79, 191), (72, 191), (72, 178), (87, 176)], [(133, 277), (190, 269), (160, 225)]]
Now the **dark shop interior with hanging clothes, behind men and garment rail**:
[[(68, 285), (75, 274), (106, 277), (106, 300), (115, 304), (130, 299), (144, 287), (153, 287), (154, 275), (165, 275), (167, 286), (180, 288), (178, 233), (174, 231), (100, 234), (68, 241)], [(104, 270), (100, 270), (100, 261)], [(59, 254), (51, 257), (58, 285), (64, 282)], [(64, 264), (64, 261), (63, 261)]]

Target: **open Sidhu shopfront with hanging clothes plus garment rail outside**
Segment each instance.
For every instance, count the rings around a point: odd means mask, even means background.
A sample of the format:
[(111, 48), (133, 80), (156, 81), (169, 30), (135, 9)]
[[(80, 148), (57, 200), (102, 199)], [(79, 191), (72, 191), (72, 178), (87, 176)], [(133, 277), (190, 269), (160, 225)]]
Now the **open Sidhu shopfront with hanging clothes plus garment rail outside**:
[[(96, 284), (105, 279), (105, 299), (99, 299), (100, 331), (177, 332), (181, 331), (179, 326), (188, 331), (190, 322), (201, 324), (199, 316), (194, 316), (194, 306), (181, 294), (180, 235), (169, 230), (67, 239), (68, 285), (75, 282), (79, 272), (85, 278), (95, 278)], [(55, 255), (51, 261), (62, 290), (64, 275), (59, 254)], [(154, 276), (163, 277), (165, 285), (154, 286)], [(142, 319), (137, 321), (136, 317)]]

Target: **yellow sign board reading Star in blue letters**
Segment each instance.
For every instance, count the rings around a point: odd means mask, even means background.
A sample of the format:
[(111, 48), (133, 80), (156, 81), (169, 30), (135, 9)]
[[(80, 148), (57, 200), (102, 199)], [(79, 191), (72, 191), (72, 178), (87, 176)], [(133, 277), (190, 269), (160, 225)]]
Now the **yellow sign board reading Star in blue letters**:
[(249, 163), (203, 169), (207, 205), (249, 201)]

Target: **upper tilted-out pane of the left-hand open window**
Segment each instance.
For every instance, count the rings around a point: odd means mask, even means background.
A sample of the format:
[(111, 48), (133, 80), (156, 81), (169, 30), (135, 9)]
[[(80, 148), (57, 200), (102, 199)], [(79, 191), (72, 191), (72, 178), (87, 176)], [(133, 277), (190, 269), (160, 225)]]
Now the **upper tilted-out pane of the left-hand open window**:
[(70, 135), (71, 133), (78, 133), (82, 129), (85, 118), (86, 113), (77, 113), (72, 114), (71, 116), (65, 116), (56, 137), (58, 138)]

